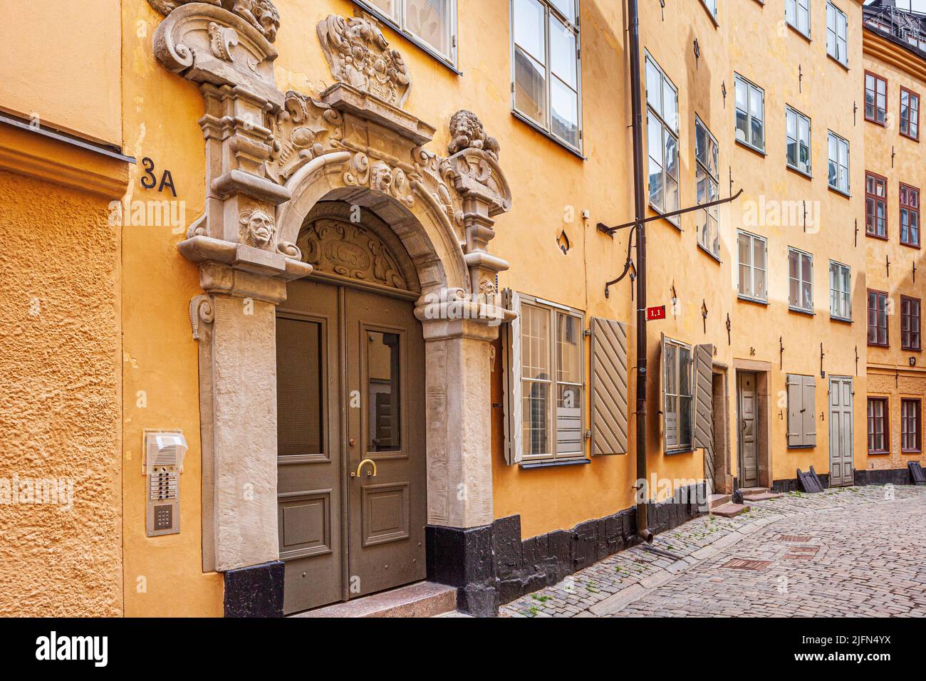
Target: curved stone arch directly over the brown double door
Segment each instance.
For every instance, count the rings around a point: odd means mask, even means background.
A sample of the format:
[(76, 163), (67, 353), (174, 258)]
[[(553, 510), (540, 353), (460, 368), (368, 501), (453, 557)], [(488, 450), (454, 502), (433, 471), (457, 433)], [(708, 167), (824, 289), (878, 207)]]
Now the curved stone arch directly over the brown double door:
[[(280, 241), (295, 244), (303, 222), (321, 201), (343, 201), (366, 208), (389, 225), (414, 263), (424, 296), (445, 287), (469, 291), (469, 269), (460, 236), (444, 210), (418, 183), (412, 184), (411, 200), (344, 182), (349, 152), (313, 159), (296, 171), (286, 188), (293, 198), (277, 208)], [(410, 205), (408, 205), (410, 204)]]

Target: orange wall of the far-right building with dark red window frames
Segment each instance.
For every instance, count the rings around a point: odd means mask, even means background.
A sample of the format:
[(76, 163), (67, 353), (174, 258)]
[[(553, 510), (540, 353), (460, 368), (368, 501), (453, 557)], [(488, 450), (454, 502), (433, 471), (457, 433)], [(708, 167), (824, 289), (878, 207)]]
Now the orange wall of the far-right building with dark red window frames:
[[(901, 86), (920, 94), (920, 140), (922, 125), (926, 121), (922, 113), (922, 96), (926, 93), (926, 73), (921, 61), (910, 57), (907, 50), (873, 32), (865, 32), (864, 65), (887, 81), (887, 124), (885, 126), (859, 120), (865, 129), (865, 168), (887, 178), (887, 240), (868, 237), (866, 241), (868, 287), (886, 291), (893, 302), (893, 313), (888, 317), (888, 343), (890, 347), (868, 347), (869, 386), (868, 395), (888, 397), (891, 452), (889, 454), (868, 454), (866, 447), (865, 465), (858, 468), (898, 469), (907, 468), (908, 460), (926, 461), (922, 454), (900, 452), (900, 403), (904, 397), (920, 400), (926, 395), (926, 367), (922, 352), (904, 350), (900, 342), (900, 296), (923, 298), (924, 278), (922, 250), (900, 243), (900, 183), (920, 188), (920, 201), (926, 191), (926, 165), (922, 161), (922, 143), (908, 139), (899, 132), (900, 88)], [(859, 75), (859, 78), (862, 78)], [(864, 84), (859, 85), (863, 92)], [(859, 100), (861, 102), (863, 100)], [(920, 208), (921, 210), (921, 208)], [(864, 211), (862, 213), (864, 215)], [(920, 229), (921, 229), (920, 212)], [(864, 222), (862, 222), (864, 233)], [(920, 233), (920, 243), (922, 235)], [(891, 263), (890, 271), (886, 261)], [(913, 268), (917, 274), (914, 281)], [(914, 358), (917, 366), (911, 367), (909, 359)], [(922, 414), (920, 414), (922, 418)]]

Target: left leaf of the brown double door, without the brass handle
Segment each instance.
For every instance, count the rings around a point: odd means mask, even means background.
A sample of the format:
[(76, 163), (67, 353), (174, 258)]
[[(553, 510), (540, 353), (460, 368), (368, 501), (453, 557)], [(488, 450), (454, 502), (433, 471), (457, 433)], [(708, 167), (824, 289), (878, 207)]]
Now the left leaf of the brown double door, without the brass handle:
[(340, 600), (344, 590), (337, 289), (312, 282), (288, 289), (277, 314), (277, 521), (286, 613)]

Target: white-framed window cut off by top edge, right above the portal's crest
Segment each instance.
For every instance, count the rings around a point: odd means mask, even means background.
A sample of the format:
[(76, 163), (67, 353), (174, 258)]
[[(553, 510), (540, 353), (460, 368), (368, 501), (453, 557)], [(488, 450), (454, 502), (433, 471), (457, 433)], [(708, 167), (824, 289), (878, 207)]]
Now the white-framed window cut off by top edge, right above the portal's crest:
[(357, 0), (393, 28), (457, 63), (457, 0)]

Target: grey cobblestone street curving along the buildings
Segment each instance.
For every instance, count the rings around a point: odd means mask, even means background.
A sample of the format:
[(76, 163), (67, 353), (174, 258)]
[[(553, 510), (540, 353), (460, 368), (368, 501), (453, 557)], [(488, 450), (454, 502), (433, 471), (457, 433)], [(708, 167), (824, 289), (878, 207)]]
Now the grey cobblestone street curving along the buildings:
[(702, 516), (517, 599), (505, 617), (926, 616), (926, 488), (862, 486)]

